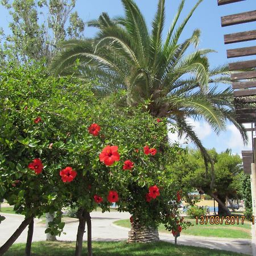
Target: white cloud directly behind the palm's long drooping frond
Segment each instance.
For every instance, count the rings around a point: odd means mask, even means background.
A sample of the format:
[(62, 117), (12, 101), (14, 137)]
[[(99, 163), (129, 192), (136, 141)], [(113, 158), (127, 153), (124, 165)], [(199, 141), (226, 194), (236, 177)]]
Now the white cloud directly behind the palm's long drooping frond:
[[(212, 129), (207, 122), (195, 121), (192, 118), (187, 118), (187, 121), (191, 124), (199, 139), (203, 140), (207, 138), (210, 134), (212, 134)], [(179, 141), (179, 143), (181, 144), (188, 141), (187, 139), (185, 139), (185, 136), (179, 139), (177, 133), (168, 133), (168, 137), (171, 141)]]

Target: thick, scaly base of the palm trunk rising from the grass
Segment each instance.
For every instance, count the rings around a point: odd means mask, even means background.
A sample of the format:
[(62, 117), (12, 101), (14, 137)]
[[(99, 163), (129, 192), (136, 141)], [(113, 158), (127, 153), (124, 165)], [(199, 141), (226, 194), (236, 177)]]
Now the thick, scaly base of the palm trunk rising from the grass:
[(159, 241), (159, 234), (157, 228), (151, 226), (143, 226), (139, 224), (138, 219), (131, 223), (131, 230), (129, 232), (128, 242), (155, 242)]

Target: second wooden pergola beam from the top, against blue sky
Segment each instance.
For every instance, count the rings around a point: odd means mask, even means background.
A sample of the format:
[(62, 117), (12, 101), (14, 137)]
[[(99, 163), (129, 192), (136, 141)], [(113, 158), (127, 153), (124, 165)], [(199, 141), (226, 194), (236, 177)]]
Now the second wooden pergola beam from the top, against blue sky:
[(237, 13), (221, 17), (221, 26), (232, 26), (246, 22), (253, 22), (256, 20), (256, 10), (246, 11), (246, 13)]

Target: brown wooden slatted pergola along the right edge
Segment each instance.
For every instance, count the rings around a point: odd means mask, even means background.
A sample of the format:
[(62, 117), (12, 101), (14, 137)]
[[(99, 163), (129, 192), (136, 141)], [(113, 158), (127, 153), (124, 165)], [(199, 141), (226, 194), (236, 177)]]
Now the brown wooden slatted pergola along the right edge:
[[(245, 0), (217, 0), (218, 5), (228, 5)], [(247, 22), (256, 21), (256, 10), (245, 13), (237, 13), (221, 17), (221, 26), (234, 26)], [(224, 35), (225, 44), (234, 44), (256, 40), (256, 30), (241, 31), (233, 34)], [(245, 57), (256, 55), (256, 46), (228, 49), (226, 56), (228, 59), (234, 57)], [(239, 123), (251, 123), (251, 131), (255, 131), (256, 123), (256, 60), (241, 60), (236, 63), (229, 63), (229, 71), (232, 73), (232, 88), (234, 89), (234, 105), (236, 107), (236, 119)], [(243, 71), (243, 72), (241, 72)], [(242, 151), (243, 170), (245, 173), (251, 173), (251, 163), (254, 163), (256, 155), (256, 141), (253, 139), (253, 151)]]

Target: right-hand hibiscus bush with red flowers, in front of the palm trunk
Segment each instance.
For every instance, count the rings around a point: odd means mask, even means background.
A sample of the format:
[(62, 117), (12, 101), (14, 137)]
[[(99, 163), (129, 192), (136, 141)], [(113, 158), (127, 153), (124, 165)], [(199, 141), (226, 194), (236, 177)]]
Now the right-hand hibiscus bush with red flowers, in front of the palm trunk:
[[(182, 161), (184, 149), (168, 141), (168, 133), (174, 133), (174, 129), (167, 130), (167, 119), (152, 117), (143, 105), (125, 108), (121, 104), (122, 93), (114, 94), (94, 115), (104, 143), (117, 145), (120, 153), (116, 156), (113, 147), (108, 158), (111, 148), (105, 148), (106, 159), (102, 162), (108, 166), (115, 185), (123, 184), (118, 209), (130, 212), (131, 220), (142, 225), (157, 227), (164, 223), (170, 232), (180, 231), (181, 226), (187, 226), (177, 211), (180, 188), (166, 167)], [(104, 123), (102, 116), (108, 117)]]

